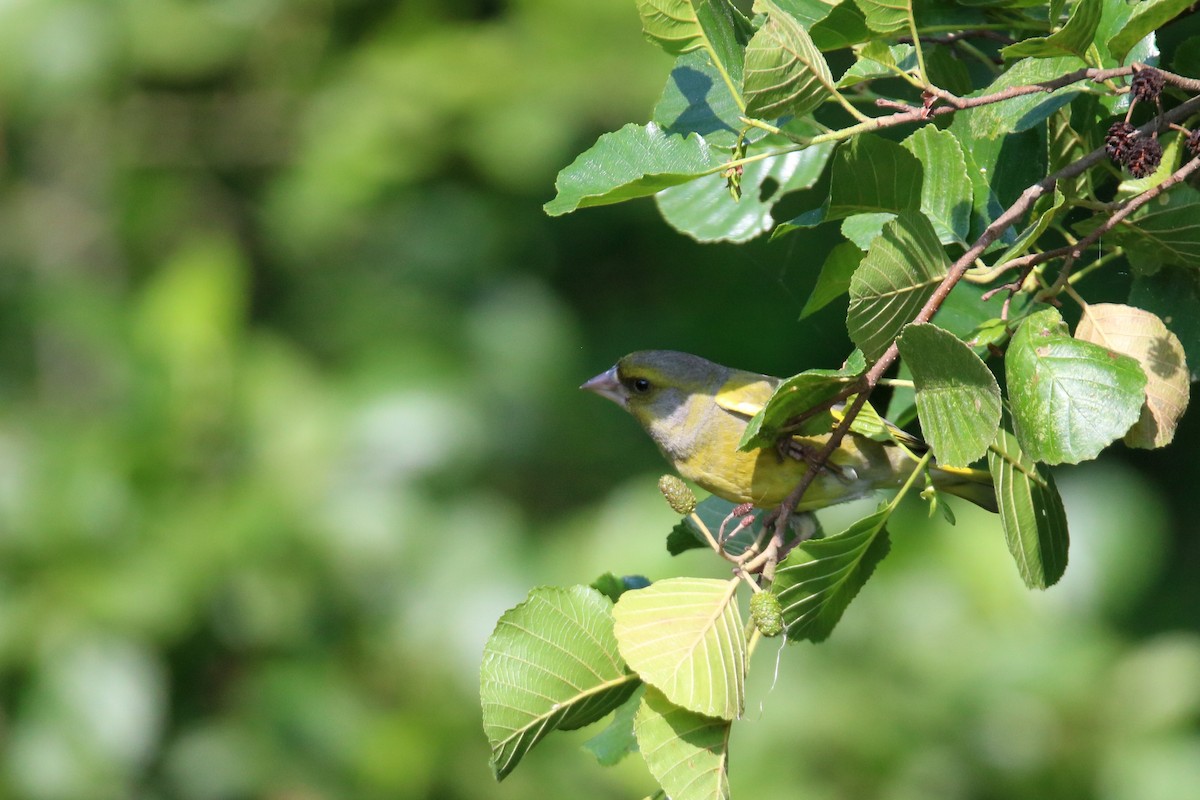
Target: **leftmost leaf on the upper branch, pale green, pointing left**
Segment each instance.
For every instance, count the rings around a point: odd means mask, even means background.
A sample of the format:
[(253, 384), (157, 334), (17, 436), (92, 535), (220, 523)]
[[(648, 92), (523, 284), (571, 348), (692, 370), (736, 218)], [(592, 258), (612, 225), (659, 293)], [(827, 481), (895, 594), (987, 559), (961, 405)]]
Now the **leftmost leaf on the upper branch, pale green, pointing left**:
[(695, 180), (722, 160), (695, 133), (686, 138), (668, 136), (654, 122), (631, 122), (605, 133), (558, 173), (558, 194), (542, 207), (557, 217), (576, 209), (649, 197)]

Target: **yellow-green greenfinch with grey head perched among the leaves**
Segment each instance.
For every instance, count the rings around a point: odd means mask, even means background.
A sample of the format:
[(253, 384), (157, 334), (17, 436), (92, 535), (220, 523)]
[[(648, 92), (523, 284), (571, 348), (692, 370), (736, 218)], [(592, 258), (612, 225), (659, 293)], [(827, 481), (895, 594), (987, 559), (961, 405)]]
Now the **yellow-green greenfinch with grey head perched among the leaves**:
[[(581, 386), (634, 415), (685, 479), (731, 503), (764, 509), (781, 504), (809, 470), (830, 434), (791, 437), (786, 447), (738, 450), (750, 419), (779, 378), (722, 367), (688, 353), (631, 353)], [(812, 511), (899, 488), (917, 465), (919, 439), (899, 428), (895, 441), (848, 433), (804, 493), (797, 511)], [(991, 476), (973, 469), (932, 467), (935, 488), (996, 510)]]

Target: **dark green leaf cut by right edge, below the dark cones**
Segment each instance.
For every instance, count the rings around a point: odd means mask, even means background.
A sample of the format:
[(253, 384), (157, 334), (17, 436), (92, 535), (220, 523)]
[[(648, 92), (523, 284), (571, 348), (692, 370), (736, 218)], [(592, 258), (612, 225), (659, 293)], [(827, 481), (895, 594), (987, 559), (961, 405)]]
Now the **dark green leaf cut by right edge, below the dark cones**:
[(1200, 264), (1200, 191), (1176, 186), (1138, 209), (1106, 234), (1129, 251), (1130, 259)]

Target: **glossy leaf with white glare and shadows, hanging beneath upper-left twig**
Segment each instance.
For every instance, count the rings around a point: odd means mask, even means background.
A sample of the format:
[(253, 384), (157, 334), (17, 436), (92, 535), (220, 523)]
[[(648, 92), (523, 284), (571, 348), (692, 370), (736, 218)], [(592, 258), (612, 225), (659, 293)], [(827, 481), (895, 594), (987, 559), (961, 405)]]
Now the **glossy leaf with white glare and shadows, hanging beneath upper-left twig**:
[(770, 137), (749, 155), (768, 152), (776, 155), (745, 166), (739, 199), (726, 190), (725, 176), (714, 173), (659, 192), (659, 211), (676, 230), (702, 242), (743, 242), (770, 230), (772, 209), (788, 192), (816, 184), (833, 144), (796, 150), (787, 139)]

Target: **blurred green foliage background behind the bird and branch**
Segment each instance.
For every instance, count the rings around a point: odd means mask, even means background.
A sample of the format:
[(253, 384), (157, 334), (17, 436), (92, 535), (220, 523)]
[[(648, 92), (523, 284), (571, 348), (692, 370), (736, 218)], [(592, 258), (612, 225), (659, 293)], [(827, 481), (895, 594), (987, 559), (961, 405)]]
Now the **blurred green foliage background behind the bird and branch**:
[[(720, 572), (668, 559), (658, 453), (575, 387), (848, 350), (836, 308), (796, 321), (832, 242), (542, 215), (668, 67), (629, 1), (0, 5), (0, 795), (650, 788), (590, 732), (497, 786), (479, 723), (530, 587)], [(1058, 473), (1045, 594), (990, 517), (914, 506), (829, 643), (760, 649), (734, 793), (1200, 786), (1195, 416)]]

